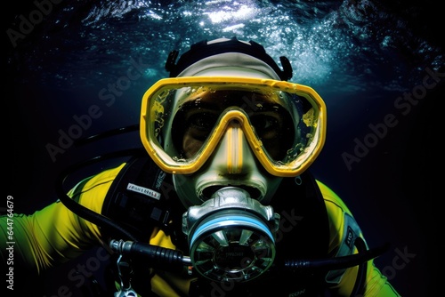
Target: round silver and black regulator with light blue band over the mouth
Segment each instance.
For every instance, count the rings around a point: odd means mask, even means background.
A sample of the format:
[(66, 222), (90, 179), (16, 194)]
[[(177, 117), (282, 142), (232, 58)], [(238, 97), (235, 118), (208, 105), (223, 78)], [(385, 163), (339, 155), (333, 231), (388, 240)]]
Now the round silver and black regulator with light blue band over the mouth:
[(247, 191), (226, 187), (182, 215), (190, 260), (214, 281), (245, 282), (260, 276), (275, 259), (279, 214)]

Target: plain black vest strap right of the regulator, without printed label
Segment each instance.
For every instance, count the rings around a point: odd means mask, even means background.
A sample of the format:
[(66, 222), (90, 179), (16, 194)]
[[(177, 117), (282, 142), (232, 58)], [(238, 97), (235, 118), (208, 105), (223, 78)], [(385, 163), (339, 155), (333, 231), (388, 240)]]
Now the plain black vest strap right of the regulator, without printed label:
[[(272, 206), (281, 217), (276, 263), (328, 257), (328, 212), (312, 173), (284, 179)], [(290, 272), (282, 268), (274, 273), (282, 293), (299, 296), (324, 293), (325, 275), (326, 271), (320, 270)]]

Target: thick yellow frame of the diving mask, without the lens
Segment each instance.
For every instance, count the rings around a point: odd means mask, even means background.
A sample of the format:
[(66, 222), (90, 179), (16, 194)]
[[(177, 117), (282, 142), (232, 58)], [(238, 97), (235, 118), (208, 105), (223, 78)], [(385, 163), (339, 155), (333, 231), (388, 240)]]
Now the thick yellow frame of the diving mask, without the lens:
[[(163, 103), (171, 96), (172, 91), (184, 87), (206, 86), (212, 89), (243, 89), (243, 90), (271, 90), (273, 92), (287, 92), (303, 97), (312, 105), (312, 116), (306, 122), (310, 122), (312, 136), (311, 141), (301, 153), (287, 164), (271, 160), (263, 148), (261, 140), (258, 140), (247, 114), (241, 108), (231, 108), (225, 112), (214, 131), (209, 135), (206, 144), (199, 154), (190, 160), (179, 160), (166, 153), (159, 142), (159, 131), (155, 122), (163, 115), (165, 110)], [(229, 76), (182, 76), (163, 78), (153, 84), (142, 96), (140, 136), (142, 145), (147, 150), (153, 161), (166, 173), (190, 174), (195, 173), (206, 163), (213, 153), (214, 148), (221, 140), (228, 123), (236, 119), (247, 138), (247, 142), (255, 153), (255, 157), (263, 165), (268, 173), (275, 176), (288, 177), (303, 173), (319, 156), (326, 139), (327, 112), (326, 104), (320, 95), (311, 87), (303, 84), (294, 84), (286, 81), (253, 77), (229, 77)]]

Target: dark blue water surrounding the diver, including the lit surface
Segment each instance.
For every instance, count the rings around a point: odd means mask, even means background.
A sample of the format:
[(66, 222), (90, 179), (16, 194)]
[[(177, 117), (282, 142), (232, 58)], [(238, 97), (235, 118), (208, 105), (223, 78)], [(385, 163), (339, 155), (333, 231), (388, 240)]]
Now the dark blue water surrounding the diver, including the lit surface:
[[(142, 94), (167, 76), (171, 50), (237, 36), (263, 44), (276, 61), (287, 56), (291, 81), (312, 86), (325, 100), (328, 137), (311, 171), (344, 199), (369, 246), (391, 244), (377, 267), (402, 296), (441, 295), (445, 26), (439, 4), (13, 2), (2, 11), (0, 207), (10, 195), (15, 213), (33, 213), (57, 199), (54, 185), (68, 165), (140, 147), (138, 132), (85, 145), (74, 140), (138, 124)], [(61, 140), (69, 133), (72, 142)], [(36, 296), (57, 295), (60, 285), (87, 295), (67, 277), (75, 266), (49, 271)]]

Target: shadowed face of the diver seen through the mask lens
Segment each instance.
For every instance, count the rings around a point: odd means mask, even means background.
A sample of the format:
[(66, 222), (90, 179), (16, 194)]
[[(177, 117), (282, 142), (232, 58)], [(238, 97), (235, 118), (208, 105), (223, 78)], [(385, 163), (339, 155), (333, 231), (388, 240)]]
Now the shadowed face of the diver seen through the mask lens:
[[(252, 96), (255, 96), (254, 100)], [(182, 106), (181, 121), (176, 123), (182, 124), (182, 140), (176, 143), (180, 145), (184, 157), (192, 158), (198, 153), (223, 111), (231, 107), (242, 108), (247, 113), (250, 124), (270, 157), (279, 160), (285, 156), (286, 151), (283, 148), (288, 148), (285, 142), (293, 138), (293, 135), (286, 135), (286, 132), (293, 132), (293, 129), (288, 128), (292, 126), (288, 124), (291, 118), (285, 108), (264, 95), (218, 91), (189, 100)], [(237, 125), (237, 120), (232, 120), (228, 130)]]

